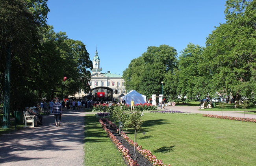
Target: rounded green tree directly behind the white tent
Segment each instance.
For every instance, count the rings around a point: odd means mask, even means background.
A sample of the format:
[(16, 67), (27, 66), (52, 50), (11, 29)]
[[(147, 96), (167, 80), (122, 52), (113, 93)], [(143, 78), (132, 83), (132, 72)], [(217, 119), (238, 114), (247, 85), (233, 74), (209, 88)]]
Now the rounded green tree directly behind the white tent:
[(150, 98), (161, 94), (161, 81), (176, 67), (177, 52), (167, 45), (149, 46), (141, 57), (133, 59), (123, 72), (126, 89), (135, 89)]

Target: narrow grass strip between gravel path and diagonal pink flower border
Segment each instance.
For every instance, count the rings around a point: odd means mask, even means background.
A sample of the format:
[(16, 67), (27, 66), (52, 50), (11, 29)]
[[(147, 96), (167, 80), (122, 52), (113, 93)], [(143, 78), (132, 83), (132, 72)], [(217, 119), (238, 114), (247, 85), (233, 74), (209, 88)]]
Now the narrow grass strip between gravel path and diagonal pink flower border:
[(94, 114), (85, 116), (85, 166), (126, 166)]

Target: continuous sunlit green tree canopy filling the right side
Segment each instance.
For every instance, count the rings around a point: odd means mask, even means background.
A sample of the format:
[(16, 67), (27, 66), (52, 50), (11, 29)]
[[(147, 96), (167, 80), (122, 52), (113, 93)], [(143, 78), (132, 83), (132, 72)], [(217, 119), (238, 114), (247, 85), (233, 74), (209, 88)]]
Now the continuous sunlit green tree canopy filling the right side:
[(133, 59), (123, 77), (128, 89), (171, 100), (193, 101), (206, 96), (242, 96), (256, 102), (256, 1), (227, 0), (226, 22), (207, 37), (206, 47), (189, 43), (176, 59), (176, 50), (150, 46)]

